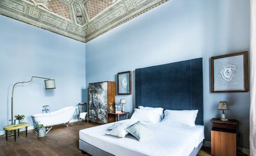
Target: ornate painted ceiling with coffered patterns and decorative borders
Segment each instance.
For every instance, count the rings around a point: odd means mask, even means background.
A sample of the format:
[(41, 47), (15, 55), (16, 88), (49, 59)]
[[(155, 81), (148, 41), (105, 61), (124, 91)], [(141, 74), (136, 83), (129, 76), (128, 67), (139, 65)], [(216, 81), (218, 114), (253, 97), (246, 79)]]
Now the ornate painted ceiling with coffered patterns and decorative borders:
[(88, 42), (168, 0), (0, 0), (0, 14)]

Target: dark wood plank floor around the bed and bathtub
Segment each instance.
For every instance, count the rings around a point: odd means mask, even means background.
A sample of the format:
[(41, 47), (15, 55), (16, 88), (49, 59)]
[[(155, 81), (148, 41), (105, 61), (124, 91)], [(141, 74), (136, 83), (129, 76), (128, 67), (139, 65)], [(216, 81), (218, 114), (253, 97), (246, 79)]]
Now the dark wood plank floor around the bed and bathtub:
[[(31, 156), (66, 156), (66, 155), (83, 155), (78, 149), (78, 133), (84, 128), (94, 127), (96, 123), (74, 122), (70, 123), (69, 127), (63, 125), (52, 128), (45, 138), (37, 138), (35, 131), (28, 131), (28, 138), (25, 138), (25, 133), (22, 133), (16, 142), (13, 136), (8, 138), (8, 141), (0, 137), (0, 155), (31, 155)], [(210, 148), (202, 147), (198, 156), (210, 155)]]

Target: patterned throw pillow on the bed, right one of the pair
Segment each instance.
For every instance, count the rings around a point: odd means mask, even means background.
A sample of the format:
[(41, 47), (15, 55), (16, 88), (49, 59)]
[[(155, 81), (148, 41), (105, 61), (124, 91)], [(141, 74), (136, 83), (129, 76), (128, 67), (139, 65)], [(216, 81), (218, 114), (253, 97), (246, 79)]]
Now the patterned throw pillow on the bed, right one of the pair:
[(138, 139), (138, 141), (142, 141), (153, 134), (153, 131), (149, 130), (149, 128), (143, 125), (140, 121), (134, 123), (130, 127), (125, 128), (125, 130)]

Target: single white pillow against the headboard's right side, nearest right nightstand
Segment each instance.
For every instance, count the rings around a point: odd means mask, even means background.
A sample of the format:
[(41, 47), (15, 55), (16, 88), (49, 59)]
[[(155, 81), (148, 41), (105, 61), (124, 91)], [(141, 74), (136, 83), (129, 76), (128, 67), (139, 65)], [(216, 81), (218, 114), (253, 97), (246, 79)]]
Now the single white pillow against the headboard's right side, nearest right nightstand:
[(165, 110), (165, 118), (163, 119), (163, 123), (195, 127), (197, 112), (198, 110)]

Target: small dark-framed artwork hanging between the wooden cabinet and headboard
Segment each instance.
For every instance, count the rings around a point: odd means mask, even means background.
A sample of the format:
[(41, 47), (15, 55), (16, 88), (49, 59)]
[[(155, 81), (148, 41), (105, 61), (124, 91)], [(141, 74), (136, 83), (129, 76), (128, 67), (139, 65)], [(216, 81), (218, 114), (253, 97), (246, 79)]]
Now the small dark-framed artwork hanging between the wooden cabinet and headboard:
[(118, 94), (131, 94), (131, 71), (118, 72), (117, 74)]

